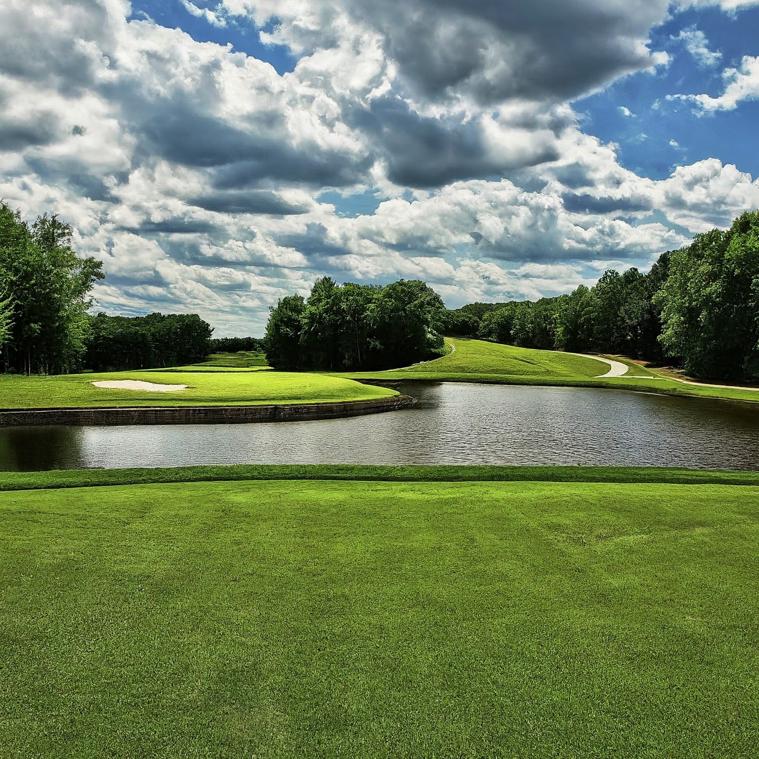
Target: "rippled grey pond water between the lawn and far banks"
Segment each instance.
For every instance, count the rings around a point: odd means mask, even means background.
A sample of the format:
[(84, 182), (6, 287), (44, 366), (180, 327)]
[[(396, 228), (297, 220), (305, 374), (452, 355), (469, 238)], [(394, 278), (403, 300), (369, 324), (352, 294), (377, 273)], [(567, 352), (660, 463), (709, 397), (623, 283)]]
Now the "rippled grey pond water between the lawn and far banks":
[(279, 424), (0, 428), (0, 468), (543, 464), (759, 469), (759, 406), (600, 389), (409, 383), (418, 403)]

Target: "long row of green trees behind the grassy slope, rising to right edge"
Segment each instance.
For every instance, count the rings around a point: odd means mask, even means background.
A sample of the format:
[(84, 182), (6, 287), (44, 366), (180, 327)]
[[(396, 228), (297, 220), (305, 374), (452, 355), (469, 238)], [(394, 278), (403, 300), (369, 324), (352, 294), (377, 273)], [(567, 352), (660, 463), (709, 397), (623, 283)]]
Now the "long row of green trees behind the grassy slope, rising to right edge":
[(712, 379), (759, 379), (759, 213), (696, 235), (650, 272), (609, 269), (596, 285), (539, 301), (446, 311), (446, 335), (666, 361)]

